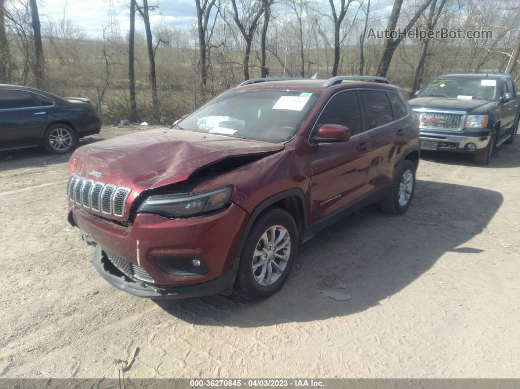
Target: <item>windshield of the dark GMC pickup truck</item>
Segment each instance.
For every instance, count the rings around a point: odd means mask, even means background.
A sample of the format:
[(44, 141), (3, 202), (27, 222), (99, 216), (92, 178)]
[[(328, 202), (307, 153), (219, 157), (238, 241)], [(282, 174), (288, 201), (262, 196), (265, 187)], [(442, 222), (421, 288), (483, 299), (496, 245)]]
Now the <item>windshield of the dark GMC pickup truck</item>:
[(424, 88), (419, 97), (450, 97), (493, 101), (497, 80), (490, 78), (437, 78)]

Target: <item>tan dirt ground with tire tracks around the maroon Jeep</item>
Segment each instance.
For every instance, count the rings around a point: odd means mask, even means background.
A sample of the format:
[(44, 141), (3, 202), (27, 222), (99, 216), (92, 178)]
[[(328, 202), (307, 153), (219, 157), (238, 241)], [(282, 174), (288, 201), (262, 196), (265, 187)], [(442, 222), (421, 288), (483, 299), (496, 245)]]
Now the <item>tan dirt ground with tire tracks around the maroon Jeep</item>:
[(69, 157), (0, 154), (0, 377), (113, 378), (138, 347), (125, 377), (520, 378), (520, 141), (487, 167), (423, 153), (404, 216), (322, 231), (256, 303), (109, 285), (66, 220)]

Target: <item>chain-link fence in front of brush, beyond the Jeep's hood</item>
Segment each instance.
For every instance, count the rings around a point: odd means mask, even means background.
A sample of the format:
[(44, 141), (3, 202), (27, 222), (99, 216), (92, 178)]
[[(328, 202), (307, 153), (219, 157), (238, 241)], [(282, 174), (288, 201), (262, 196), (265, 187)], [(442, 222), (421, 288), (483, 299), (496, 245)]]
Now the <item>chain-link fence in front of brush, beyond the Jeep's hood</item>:
[(202, 93), (200, 87), (179, 85), (167, 89), (158, 88), (154, 103), (150, 88), (136, 88), (137, 115), (133, 120), (128, 88), (50, 86), (47, 90), (61, 97), (89, 99), (98, 110), (102, 123), (106, 125), (117, 125), (121, 120), (128, 120), (130, 123), (172, 124), (213, 97)]

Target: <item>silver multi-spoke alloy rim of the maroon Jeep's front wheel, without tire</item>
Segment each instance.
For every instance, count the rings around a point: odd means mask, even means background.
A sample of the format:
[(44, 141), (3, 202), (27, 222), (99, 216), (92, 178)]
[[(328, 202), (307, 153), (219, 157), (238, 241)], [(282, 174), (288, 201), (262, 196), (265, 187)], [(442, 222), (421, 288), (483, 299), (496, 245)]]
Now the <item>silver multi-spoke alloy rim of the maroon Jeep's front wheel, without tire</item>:
[(291, 236), (282, 225), (269, 227), (258, 239), (253, 253), (253, 276), (262, 286), (274, 284), (281, 276), (291, 253)]

